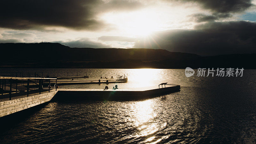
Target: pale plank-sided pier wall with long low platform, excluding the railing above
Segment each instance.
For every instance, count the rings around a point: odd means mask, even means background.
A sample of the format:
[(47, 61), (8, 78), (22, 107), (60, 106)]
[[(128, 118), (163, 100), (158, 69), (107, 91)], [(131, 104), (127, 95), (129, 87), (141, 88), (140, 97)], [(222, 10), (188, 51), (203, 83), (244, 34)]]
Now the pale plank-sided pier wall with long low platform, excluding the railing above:
[(0, 101), (0, 117), (55, 100), (140, 100), (180, 91), (180, 85), (149, 86), (129, 89), (52, 89), (45, 93), (12, 97)]

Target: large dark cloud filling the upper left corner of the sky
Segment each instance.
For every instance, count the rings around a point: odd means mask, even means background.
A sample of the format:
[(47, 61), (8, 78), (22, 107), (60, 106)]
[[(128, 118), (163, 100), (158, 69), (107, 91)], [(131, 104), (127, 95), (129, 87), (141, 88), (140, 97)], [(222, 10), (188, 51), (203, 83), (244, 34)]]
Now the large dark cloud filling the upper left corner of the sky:
[(0, 27), (39, 30), (46, 26), (108, 29), (111, 26), (95, 18), (98, 13), (140, 6), (138, 2), (124, 0), (1, 0), (0, 5)]

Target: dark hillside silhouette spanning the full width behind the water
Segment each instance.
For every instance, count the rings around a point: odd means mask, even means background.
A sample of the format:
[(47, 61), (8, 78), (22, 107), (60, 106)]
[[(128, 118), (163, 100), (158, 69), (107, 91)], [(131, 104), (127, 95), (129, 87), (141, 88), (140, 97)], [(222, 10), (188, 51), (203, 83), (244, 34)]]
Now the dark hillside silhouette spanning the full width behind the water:
[(163, 49), (70, 48), (59, 43), (0, 44), (1, 68), (247, 68), (256, 54), (201, 57)]

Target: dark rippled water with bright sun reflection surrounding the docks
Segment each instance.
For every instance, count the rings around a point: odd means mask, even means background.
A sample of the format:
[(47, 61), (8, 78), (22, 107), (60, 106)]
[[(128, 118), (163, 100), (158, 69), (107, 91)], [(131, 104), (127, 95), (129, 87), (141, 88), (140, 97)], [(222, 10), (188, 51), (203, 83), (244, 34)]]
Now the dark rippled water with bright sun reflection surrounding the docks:
[(128, 83), (118, 87), (168, 82), (181, 85), (181, 91), (142, 101), (51, 102), (5, 124), (1, 143), (256, 142), (256, 70), (244, 70), (243, 77), (189, 78), (184, 69), (0, 69), (0, 74), (16, 71), (58, 76), (87, 72), (97, 79), (128, 73)]

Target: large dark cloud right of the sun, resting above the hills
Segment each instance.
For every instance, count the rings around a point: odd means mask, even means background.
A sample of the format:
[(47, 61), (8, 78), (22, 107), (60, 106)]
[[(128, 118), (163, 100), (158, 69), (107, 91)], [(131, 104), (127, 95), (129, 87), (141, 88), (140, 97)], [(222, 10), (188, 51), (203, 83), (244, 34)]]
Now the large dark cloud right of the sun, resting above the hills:
[(248, 21), (207, 22), (194, 30), (166, 30), (140, 38), (136, 48), (166, 49), (205, 55), (255, 53), (256, 23)]

